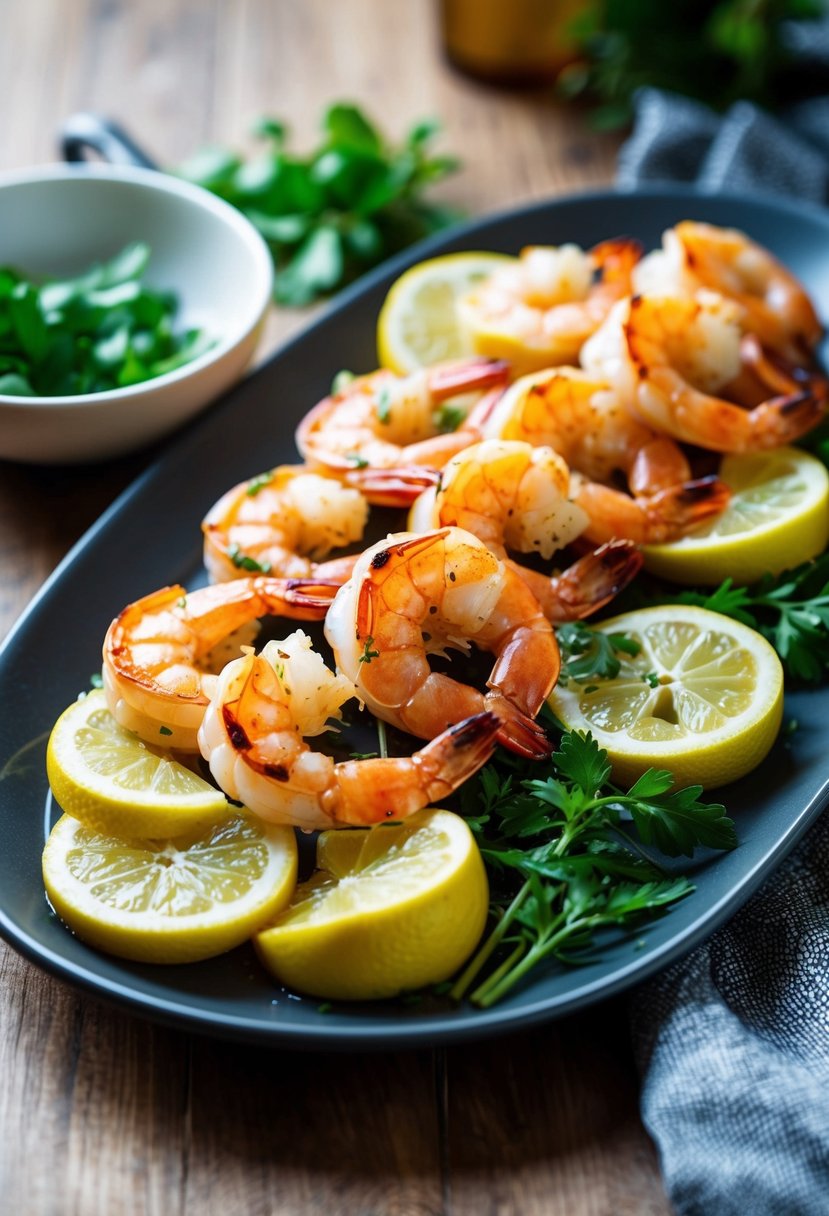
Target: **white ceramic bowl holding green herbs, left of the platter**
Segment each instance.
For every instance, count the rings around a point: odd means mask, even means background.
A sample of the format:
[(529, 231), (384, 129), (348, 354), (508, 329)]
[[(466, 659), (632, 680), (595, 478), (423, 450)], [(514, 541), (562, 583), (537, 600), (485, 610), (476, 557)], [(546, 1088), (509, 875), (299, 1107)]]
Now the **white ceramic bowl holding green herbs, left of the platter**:
[(0, 394), (0, 457), (71, 465), (118, 456), (174, 430), (243, 372), (272, 289), (267, 246), (208, 191), (152, 169), (49, 165), (0, 175), (0, 265), (77, 274), (131, 241), (151, 248), (145, 282), (179, 298), (176, 325), (215, 345), (177, 371), (80, 396)]

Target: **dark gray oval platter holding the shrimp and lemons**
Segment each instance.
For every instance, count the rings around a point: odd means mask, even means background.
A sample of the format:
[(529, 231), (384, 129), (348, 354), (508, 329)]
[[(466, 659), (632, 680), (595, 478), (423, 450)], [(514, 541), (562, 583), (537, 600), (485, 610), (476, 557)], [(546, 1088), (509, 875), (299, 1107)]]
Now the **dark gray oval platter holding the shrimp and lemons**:
[(620, 992), (679, 958), (758, 886), (829, 799), (829, 691), (788, 697), (786, 717), (799, 728), (778, 741), (758, 770), (721, 792), (737, 821), (739, 848), (683, 860), (678, 868), (693, 876), (697, 890), (643, 931), (644, 945), (626, 939), (577, 969), (540, 968), (486, 1010), (382, 1002), (321, 1012), (317, 1001), (275, 987), (249, 947), (191, 967), (120, 962), (67, 933), (51, 914), (40, 879), (52, 814), (44, 732), (88, 687), (106, 627), (124, 604), (164, 584), (202, 581), (199, 522), (219, 494), (295, 461), (294, 427), (334, 373), (374, 366), (376, 319), (394, 278), (424, 257), (461, 249), (515, 253), (524, 244), (590, 246), (622, 233), (652, 248), (681, 219), (741, 227), (800, 275), (827, 309), (829, 215), (817, 208), (666, 186), (566, 197), (475, 221), (343, 293), (181, 433), (79, 541), (0, 651), (0, 931), (21, 953), (103, 1000), (190, 1029), (273, 1046), (393, 1048), (515, 1030)]

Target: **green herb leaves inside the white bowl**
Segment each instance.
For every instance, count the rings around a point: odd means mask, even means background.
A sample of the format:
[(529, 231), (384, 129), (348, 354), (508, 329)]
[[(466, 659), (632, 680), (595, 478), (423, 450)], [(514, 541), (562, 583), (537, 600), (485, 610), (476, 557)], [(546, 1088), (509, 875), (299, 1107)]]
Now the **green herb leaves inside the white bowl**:
[(177, 332), (176, 297), (141, 282), (148, 246), (128, 244), (74, 278), (34, 282), (0, 269), (0, 393), (74, 396), (175, 371), (208, 350), (202, 330)]

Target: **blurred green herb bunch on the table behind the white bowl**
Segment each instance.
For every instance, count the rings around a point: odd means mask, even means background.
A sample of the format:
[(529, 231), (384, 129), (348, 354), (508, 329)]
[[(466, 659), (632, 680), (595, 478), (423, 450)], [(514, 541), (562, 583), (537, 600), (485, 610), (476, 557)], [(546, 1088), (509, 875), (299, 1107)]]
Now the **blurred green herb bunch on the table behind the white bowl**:
[(339, 102), (306, 156), (288, 148), (282, 123), (263, 118), (254, 128), (265, 141), (260, 156), (207, 148), (177, 171), (248, 216), (273, 255), (277, 303), (303, 305), (459, 218), (422, 197), (458, 168), (432, 152), (439, 129), (416, 123), (391, 146), (361, 109)]

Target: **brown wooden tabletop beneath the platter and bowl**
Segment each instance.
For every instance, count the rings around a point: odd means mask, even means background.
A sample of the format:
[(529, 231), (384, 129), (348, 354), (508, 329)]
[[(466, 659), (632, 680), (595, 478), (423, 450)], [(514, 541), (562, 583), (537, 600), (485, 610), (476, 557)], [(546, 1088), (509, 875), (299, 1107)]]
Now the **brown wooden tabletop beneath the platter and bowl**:
[[(611, 180), (615, 143), (547, 91), (466, 79), (429, 0), (28, 0), (4, 5), (0, 168), (56, 158), (75, 109), (162, 163), (247, 145), (263, 112), (300, 142), (355, 98), (390, 135), (439, 114), (472, 213)], [(266, 350), (309, 314), (273, 313)], [(0, 463), (0, 637), (145, 467)], [(113, 606), (113, 610), (120, 606)], [(0, 758), (1, 760), (2, 758)], [(152, 1025), (0, 944), (0, 1209), (18, 1216), (659, 1216), (624, 1001), (451, 1049), (291, 1054)]]

